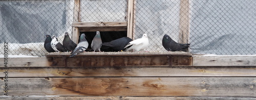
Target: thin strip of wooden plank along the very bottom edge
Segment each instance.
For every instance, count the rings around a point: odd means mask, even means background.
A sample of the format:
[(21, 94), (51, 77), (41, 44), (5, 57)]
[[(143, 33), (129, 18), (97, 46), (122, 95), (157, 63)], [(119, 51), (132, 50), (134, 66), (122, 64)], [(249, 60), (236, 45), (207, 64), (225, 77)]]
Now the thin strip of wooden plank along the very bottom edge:
[(222, 100), (254, 100), (255, 97), (170, 97), (170, 96), (0, 96), (0, 99), (105, 99), (105, 100), (114, 100), (114, 99), (163, 99), (163, 100), (205, 100), (205, 99), (222, 99)]

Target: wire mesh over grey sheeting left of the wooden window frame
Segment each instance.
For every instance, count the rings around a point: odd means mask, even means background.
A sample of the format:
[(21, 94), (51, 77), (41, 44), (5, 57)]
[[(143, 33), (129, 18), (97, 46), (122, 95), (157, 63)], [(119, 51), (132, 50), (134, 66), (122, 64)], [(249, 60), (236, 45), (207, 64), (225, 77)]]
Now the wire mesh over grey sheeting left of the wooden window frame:
[(0, 1), (0, 42), (8, 42), (8, 54), (45, 56), (46, 35), (61, 42), (66, 31), (71, 34), (70, 4), (73, 1)]

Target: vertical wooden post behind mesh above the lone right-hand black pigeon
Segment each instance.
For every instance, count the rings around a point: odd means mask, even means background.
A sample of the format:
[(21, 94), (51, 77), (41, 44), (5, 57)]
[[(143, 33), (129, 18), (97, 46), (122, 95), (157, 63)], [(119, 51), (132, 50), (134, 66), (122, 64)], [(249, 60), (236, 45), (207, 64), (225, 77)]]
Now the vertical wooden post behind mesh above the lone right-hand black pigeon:
[(189, 43), (189, 0), (180, 0), (179, 43)]

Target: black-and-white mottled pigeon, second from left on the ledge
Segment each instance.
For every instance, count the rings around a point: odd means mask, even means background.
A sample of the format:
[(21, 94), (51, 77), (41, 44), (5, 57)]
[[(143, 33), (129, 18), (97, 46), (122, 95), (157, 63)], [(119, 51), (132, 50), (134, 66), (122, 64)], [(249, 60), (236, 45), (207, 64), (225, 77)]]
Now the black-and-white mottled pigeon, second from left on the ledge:
[(66, 52), (66, 51), (67, 51), (67, 50), (63, 47), (63, 45), (58, 42), (58, 39), (56, 38), (56, 36), (52, 36), (51, 47), (52, 47), (53, 50), (55, 50), (56, 52)]

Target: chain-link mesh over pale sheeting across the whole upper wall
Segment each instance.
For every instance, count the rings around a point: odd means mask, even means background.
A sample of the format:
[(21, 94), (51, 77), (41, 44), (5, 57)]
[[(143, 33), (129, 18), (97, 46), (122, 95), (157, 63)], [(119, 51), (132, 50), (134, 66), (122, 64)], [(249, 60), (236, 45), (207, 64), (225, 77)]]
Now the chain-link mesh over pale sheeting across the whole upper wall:
[[(1, 54), (8, 42), (9, 54), (45, 56), (46, 35), (57, 36), (60, 43), (65, 32), (72, 36), (74, 8), (74, 0), (0, 1)], [(80, 0), (79, 22), (125, 22), (127, 8), (126, 0)], [(133, 38), (146, 33), (151, 44), (146, 51), (152, 52), (166, 51), (165, 34), (176, 42), (188, 34), (193, 54), (256, 54), (255, 9), (253, 0), (135, 0)]]

